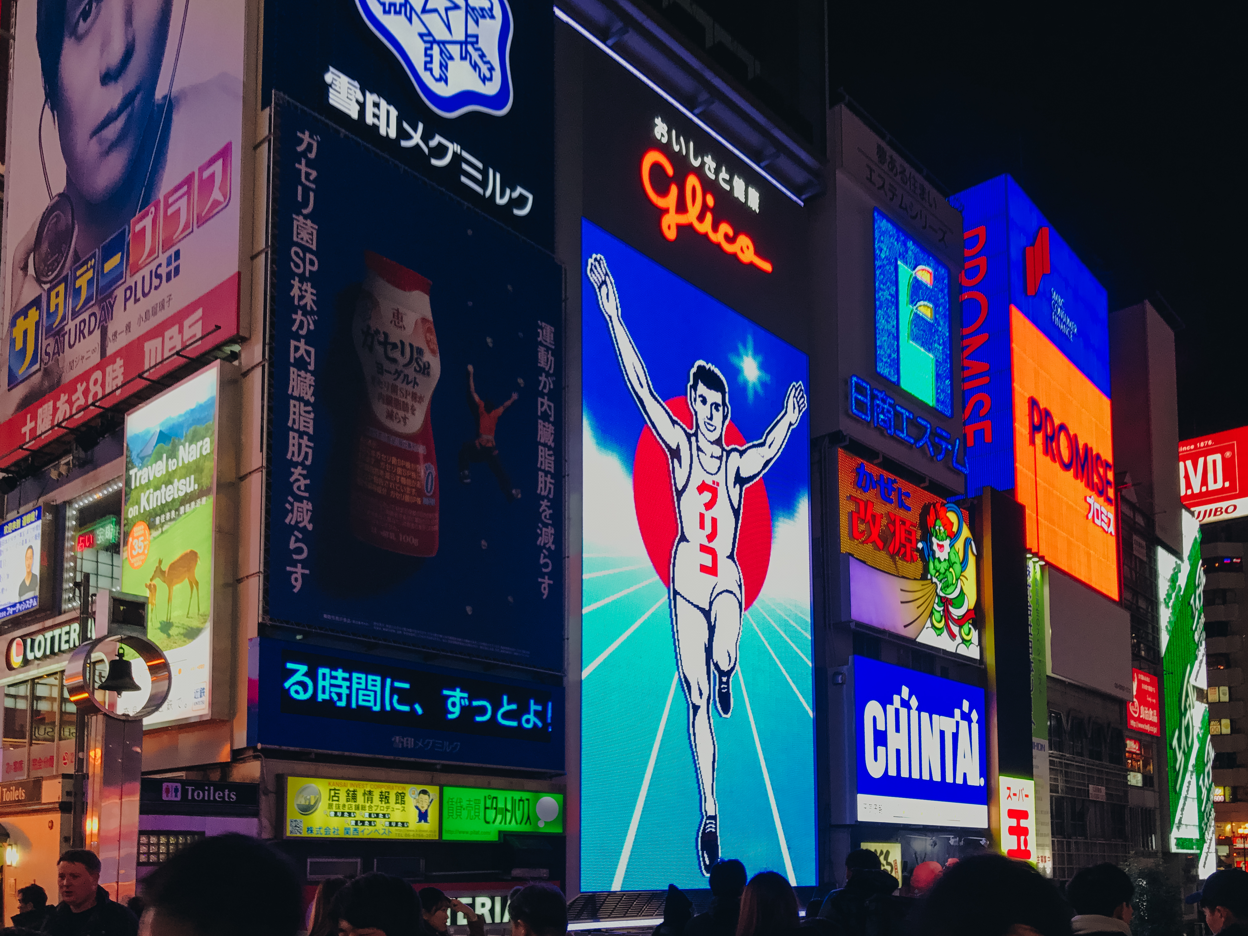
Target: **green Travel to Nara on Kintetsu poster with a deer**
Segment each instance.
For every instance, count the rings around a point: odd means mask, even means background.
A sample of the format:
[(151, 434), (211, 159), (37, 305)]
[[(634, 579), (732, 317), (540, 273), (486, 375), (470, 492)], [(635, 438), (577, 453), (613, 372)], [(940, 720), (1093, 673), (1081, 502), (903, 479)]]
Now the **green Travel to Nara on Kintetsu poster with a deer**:
[(126, 416), (121, 590), (149, 597), (147, 635), (173, 669), (149, 726), (211, 714), (220, 378), (212, 364)]

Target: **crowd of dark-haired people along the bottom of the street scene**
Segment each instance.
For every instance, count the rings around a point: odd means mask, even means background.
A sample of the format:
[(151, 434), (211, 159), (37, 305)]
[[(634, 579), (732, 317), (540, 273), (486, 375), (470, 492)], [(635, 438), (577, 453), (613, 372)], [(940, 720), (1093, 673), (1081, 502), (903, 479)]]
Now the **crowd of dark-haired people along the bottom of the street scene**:
[[(125, 906), (100, 886), (100, 859), (74, 849), (56, 869), (59, 902), (42, 887), (17, 891), (19, 912), (0, 936), (447, 936), (462, 914), (469, 936), (485, 936), (470, 906), (437, 887), (416, 890), (386, 874), (322, 881), (305, 916), (300, 877), (272, 846), (245, 835), (206, 837), (142, 881)], [(710, 907), (668, 889), (655, 936), (1118, 936), (1131, 934), (1134, 884), (1109, 864), (1086, 867), (1065, 894), (1031, 865), (975, 855), (947, 866), (920, 864), (905, 887), (875, 852), (851, 851), (845, 886), (807, 901), (775, 871), (748, 877), (721, 860), (710, 871)], [(1211, 932), (1248, 936), (1248, 871), (1216, 871), (1191, 895)], [(513, 936), (565, 936), (558, 887), (530, 884), (508, 899)]]

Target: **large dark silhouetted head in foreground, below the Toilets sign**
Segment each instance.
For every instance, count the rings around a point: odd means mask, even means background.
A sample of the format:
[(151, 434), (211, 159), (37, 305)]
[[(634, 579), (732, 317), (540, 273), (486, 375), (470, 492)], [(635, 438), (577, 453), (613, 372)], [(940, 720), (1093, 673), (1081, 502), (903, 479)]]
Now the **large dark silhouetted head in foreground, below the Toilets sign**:
[(295, 936), (303, 929), (298, 875), (250, 835), (182, 849), (144, 881), (140, 936)]

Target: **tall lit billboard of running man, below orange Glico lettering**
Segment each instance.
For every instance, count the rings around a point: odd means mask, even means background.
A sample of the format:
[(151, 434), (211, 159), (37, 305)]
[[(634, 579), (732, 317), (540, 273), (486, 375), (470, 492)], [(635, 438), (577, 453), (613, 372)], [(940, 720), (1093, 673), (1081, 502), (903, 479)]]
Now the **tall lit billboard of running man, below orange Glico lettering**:
[(582, 252), (580, 886), (815, 884), (807, 358), (589, 221)]

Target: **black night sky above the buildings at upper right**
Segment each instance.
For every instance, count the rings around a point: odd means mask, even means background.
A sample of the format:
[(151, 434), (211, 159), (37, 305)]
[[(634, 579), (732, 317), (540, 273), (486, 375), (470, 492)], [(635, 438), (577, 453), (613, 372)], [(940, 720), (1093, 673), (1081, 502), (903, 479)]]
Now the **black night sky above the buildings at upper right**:
[[(700, 5), (810, 100), (815, 64), (794, 50), (817, 0)], [(1248, 424), (1237, 34), (1209, 6), (832, 2), (829, 100), (844, 89), (950, 192), (1011, 173), (1111, 311), (1161, 297), (1184, 324), (1188, 438)]]

